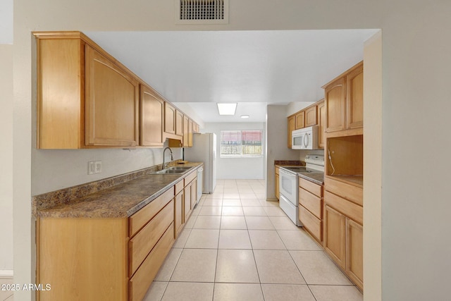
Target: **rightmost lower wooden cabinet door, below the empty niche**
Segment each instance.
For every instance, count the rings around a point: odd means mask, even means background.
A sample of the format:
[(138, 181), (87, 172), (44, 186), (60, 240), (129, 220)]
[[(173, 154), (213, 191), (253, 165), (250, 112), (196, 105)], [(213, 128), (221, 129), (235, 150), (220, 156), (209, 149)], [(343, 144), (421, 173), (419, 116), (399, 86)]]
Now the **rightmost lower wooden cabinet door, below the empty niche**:
[(364, 283), (364, 228), (346, 219), (346, 274), (363, 289)]

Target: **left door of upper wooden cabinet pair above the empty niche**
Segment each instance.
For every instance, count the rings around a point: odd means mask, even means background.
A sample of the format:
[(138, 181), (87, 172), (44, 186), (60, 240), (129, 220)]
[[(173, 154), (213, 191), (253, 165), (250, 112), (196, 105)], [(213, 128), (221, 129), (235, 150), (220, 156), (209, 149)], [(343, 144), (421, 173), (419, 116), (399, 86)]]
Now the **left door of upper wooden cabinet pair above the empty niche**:
[(338, 78), (325, 89), (326, 133), (346, 128), (345, 78)]

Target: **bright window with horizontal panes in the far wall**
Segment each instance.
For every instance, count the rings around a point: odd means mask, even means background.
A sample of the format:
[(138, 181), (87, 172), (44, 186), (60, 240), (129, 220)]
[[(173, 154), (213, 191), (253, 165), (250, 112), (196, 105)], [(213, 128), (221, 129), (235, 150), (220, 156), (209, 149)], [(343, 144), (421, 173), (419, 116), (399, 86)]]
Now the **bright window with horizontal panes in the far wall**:
[(221, 157), (261, 156), (263, 130), (221, 130)]

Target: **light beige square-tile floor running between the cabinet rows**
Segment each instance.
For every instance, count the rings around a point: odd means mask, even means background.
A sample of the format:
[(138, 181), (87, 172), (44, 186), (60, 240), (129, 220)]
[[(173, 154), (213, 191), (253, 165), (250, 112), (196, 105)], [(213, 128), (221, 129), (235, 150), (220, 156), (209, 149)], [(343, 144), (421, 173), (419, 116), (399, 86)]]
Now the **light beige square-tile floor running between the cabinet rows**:
[(264, 180), (218, 180), (203, 195), (144, 300), (362, 301), (362, 293)]

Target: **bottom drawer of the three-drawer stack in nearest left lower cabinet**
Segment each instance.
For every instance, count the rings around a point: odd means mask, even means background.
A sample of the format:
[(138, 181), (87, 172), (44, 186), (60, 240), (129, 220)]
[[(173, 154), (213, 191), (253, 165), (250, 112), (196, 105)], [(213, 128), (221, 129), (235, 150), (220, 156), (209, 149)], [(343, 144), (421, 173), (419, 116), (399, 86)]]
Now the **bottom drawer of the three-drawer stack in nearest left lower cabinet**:
[(129, 300), (142, 300), (174, 242), (174, 224), (166, 229), (159, 242), (129, 281)]

